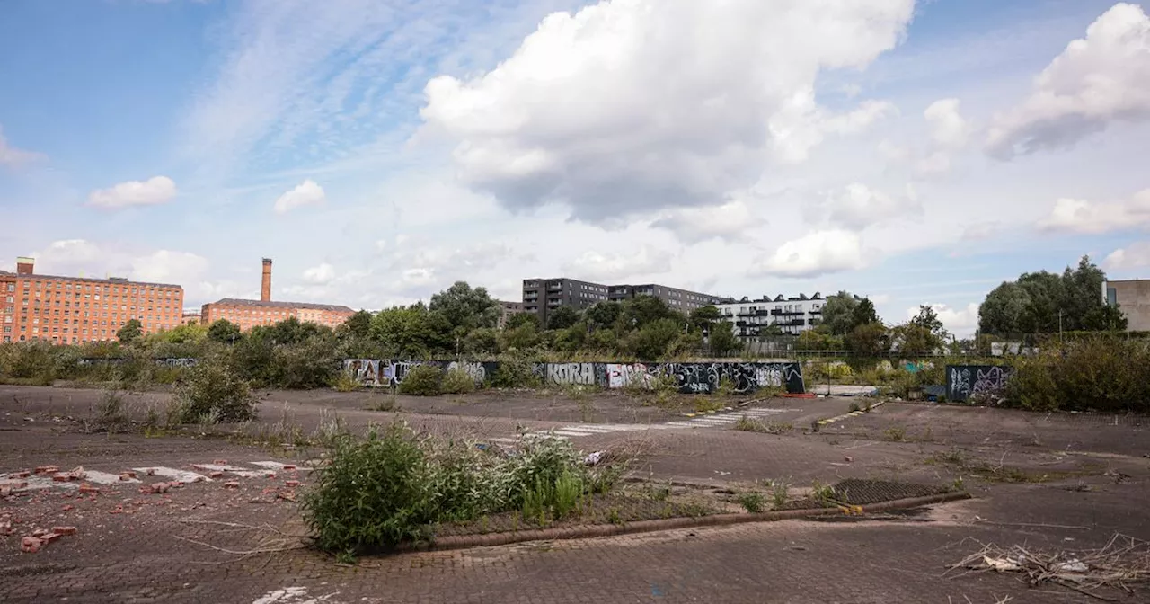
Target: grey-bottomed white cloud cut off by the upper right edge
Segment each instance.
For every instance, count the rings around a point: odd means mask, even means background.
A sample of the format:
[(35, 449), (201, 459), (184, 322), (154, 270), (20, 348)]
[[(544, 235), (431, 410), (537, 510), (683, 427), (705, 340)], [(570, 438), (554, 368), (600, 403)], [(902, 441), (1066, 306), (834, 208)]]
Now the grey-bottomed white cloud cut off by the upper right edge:
[(1009, 159), (1070, 146), (1116, 121), (1145, 120), (1147, 82), (1150, 18), (1137, 5), (1114, 5), (1035, 77), (1026, 100), (995, 116), (988, 151)]

